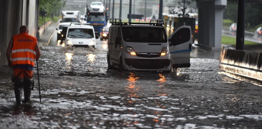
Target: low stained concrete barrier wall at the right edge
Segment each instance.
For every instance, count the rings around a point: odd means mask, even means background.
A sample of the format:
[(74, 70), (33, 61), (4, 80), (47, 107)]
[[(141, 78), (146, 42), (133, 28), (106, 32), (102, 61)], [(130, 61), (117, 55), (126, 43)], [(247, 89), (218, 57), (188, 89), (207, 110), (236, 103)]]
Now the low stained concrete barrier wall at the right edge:
[(219, 68), (262, 81), (262, 53), (222, 47)]

